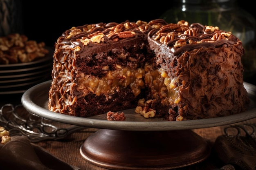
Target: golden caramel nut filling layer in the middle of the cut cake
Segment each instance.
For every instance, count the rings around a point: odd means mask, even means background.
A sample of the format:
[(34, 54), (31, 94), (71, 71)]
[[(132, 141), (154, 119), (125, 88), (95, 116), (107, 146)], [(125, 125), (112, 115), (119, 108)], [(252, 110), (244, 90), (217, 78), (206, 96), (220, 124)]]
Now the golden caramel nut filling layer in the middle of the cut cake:
[(176, 81), (177, 79), (170, 79), (165, 71), (153, 69), (150, 64), (146, 64), (144, 68), (118, 68), (101, 78), (81, 74), (77, 90), (83, 91), (84, 96), (95, 93), (96, 96), (104, 94), (108, 98), (127, 86), (137, 96), (147, 86), (155, 98), (160, 97), (162, 104), (170, 106), (171, 103), (177, 104), (180, 101)]

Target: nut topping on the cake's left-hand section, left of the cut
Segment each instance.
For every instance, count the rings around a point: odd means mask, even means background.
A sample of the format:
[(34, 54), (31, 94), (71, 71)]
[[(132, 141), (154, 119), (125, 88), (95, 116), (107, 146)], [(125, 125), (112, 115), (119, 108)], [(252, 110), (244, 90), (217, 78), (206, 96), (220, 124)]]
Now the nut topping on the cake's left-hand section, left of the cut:
[(152, 29), (160, 29), (162, 26), (166, 25), (162, 19), (151, 20), (150, 22), (145, 22), (138, 20), (137, 22), (130, 22), (129, 20), (116, 23), (98, 23), (98, 24), (85, 24), (83, 26), (72, 27), (71, 29), (65, 31), (58, 41), (63, 41), (64, 39), (75, 40), (82, 42), (83, 45), (87, 46), (89, 42), (101, 43), (108, 40), (117, 42), (124, 38), (134, 38), (136, 35), (143, 33), (148, 33)]

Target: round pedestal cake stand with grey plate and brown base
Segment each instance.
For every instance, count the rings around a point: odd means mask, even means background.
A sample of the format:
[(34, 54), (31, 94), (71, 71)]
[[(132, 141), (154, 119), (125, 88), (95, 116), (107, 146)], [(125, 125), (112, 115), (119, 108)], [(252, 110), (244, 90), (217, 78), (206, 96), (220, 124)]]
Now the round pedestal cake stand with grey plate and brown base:
[(256, 117), (256, 86), (244, 83), (250, 106), (236, 115), (188, 121), (146, 119), (134, 109), (122, 110), (126, 121), (108, 121), (106, 114), (74, 117), (48, 110), (51, 81), (29, 88), (21, 98), (32, 114), (65, 124), (99, 128), (80, 147), (88, 162), (113, 170), (166, 170), (199, 163), (210, 155), (211, 147), (192, 131), (234, 124)]

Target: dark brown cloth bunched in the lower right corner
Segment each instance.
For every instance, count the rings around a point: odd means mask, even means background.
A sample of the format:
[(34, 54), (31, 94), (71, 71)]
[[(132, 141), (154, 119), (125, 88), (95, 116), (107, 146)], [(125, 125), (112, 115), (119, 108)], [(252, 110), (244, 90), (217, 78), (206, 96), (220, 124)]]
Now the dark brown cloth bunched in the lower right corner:
[[(236, 170), (256, 170), (256, 126), (254, 133), (247, 133), (242, 126), (234, 126), (238, 135), (221, 135), (217, 137), (213, 151), (226, 164), (233, 165)], [(245, 135), (240, 135), (244, 130)]]

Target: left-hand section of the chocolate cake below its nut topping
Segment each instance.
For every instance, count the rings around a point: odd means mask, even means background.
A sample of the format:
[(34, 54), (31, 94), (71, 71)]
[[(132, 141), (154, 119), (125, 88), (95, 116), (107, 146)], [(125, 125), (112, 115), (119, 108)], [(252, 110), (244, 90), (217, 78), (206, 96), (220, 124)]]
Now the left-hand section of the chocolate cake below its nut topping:
[(65, 40), (55, 51), (57, 60), (54, 60), (49, 93), (51, 109), (86, 117), (135, 108), (137, 101), (144, 97), (141, 93), (145, 89), (144, 67), (153, 67), (145, 65), (146, 61), (152, 62), (154, 55), (144, 42), (139, 38), (126, 39), (100, 49), (89, 45), (83, 52), (72, 50), (80, 49), (83, 44), (79, 42), (79, 46), (74, 47)]

